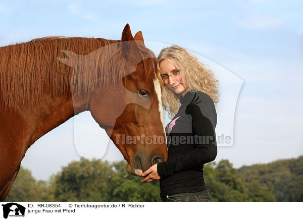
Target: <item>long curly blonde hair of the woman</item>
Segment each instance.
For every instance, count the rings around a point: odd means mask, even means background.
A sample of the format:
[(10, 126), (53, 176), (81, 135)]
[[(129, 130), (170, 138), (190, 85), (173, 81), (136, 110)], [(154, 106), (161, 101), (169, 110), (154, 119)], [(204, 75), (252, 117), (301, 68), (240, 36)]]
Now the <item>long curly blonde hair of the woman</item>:
[(162, 103), (170, 118), (177, 114), (180, 101), (178, 95), (165, 86), (161, 78), (160, 63), (163, 60), (172, 62), (178, 70), (182, 70), (188, 90), (204, 92), (213, 99), (214, 103), (219, 101), (219, 80), (215, 79), (214, 73), (207, 65), (199, 62), (186, 49), (177, 45), (164, 48), (157, 58), (157, 78), (162, 89)]

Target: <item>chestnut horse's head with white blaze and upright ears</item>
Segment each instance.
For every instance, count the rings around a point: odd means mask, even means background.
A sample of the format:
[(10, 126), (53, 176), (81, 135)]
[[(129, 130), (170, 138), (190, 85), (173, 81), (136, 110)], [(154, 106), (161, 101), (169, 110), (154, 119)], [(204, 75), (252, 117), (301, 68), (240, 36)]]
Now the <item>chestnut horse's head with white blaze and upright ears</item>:
[[(160, 83), (156, 58), (144, 45), (141, 32), (133, 37), (127, 24), (121, 41), (79, 55), (64, 51), (59, 60), (73, 67), (72, 85), (83, 74), (98, 74), (90, 86), (88, 110), (127, 160), (127, 172), (140, 176), (153, 164), (167, 160)], [(106, 60), (103, 58), (107, 57)], [(81, 65), (79, 65), (81, 64)], [(82, 85), (81, 85), (82, 86)], [(80, 86), (80, 87), (81, 87)], [(71, 86), (72, 94), (85, 88)], [(76, 101), (74, 101), (76, 105)]]

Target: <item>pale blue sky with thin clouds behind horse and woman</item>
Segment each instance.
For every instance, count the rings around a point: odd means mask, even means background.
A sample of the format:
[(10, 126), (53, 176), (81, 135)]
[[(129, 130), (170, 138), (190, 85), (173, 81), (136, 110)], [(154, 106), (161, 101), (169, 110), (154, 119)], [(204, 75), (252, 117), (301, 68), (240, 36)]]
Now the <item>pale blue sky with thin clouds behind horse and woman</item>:
[[(44, 36), (121, 39), (128, 23), (156, 56), (169, 45), (186, 48), (220, 80), (216, 133), (231, 135), (233, 142), (218, 146), (215, 161), (228, 159), (239, 168), (303, 155), (302, 14), (301, 1), (5, 0), (0, 46)], [(47, 180), (79, 160), (88, 151), (74, 135), (81, 123), (102, 142), (87, 142), (89, 152), (110, 161), (123, 158), (84, 112), (38, 139), (22, 166)]]

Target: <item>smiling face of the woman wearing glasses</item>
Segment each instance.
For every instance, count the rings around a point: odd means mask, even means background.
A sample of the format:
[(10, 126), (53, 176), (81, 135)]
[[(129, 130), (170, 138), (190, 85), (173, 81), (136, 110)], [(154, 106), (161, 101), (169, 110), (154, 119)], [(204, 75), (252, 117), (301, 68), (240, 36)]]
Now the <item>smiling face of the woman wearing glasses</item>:
[[(168, 60), (163, 60), (159, 66), (161, 70), (161, 76), (168, 76), (167, 79), (163, 80), (164, 84), (168, 86), (168, 88), (174, 93), (184, 96), (187, 86), (185, 84), (185, 76), (182, 71), (180, 71), (172, 62)], [(176, 71), (180, 72), (178, 73)]]

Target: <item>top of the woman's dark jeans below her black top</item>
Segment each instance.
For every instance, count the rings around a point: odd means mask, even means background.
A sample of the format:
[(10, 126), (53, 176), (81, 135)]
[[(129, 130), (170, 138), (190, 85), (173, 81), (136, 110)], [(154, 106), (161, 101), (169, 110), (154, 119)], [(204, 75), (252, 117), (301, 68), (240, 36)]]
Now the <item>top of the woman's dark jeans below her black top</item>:
[(194, 193), (177, 193), (160, 197), (161, 202), (213, 202), (207, 190)]

